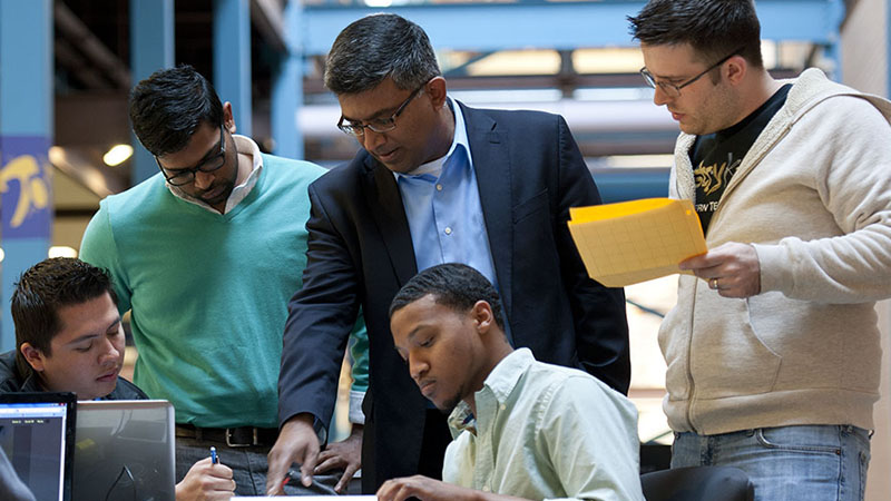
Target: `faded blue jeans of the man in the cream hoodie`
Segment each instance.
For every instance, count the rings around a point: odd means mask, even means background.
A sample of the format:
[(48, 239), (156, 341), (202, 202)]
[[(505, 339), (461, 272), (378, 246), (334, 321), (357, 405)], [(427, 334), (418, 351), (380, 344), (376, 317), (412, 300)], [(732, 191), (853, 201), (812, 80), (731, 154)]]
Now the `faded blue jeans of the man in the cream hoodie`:
[(756, 501), (860, 501), (870, 463), (869, 432), (856, 426), (781, 426), (719, 435), (675, 433), (672, 468), (735, 466)]

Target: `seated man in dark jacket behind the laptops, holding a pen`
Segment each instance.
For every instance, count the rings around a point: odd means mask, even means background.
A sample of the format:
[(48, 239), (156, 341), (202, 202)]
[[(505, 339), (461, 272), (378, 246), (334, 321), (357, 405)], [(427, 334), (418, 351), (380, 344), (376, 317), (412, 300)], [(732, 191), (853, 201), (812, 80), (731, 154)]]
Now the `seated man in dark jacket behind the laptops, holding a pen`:
[[(105, 271), (69, 257), (26, 271), (12, 293), (17, 350), (0, 355), (0, 392), (74, 392), (79, 400), (144, 400), (118, 376), (124, 327)], [(198, 461), (176, 485), (177, 501), (228, 499), (232, 470)]]

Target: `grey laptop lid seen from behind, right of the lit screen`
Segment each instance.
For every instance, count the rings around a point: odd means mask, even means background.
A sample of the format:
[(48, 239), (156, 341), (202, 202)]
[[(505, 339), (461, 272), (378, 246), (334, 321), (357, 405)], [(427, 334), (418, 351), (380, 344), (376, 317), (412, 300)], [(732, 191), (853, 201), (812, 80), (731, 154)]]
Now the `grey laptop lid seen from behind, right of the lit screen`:
[(174, 424), (165, 400), (78, 402), (72, 499), (174, 501)]

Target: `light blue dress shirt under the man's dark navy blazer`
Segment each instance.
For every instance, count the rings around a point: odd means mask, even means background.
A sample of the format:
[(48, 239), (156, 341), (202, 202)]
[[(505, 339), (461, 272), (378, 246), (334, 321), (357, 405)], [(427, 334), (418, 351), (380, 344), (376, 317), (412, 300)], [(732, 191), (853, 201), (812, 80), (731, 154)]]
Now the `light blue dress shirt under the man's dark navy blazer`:
[(418, 272), (442, 263), (463, 263), (498, 288), (480, 190), (461, 107), (454, 114), (454, 139), (444, 157), (408, 174), (395, 174), (409, 220)]

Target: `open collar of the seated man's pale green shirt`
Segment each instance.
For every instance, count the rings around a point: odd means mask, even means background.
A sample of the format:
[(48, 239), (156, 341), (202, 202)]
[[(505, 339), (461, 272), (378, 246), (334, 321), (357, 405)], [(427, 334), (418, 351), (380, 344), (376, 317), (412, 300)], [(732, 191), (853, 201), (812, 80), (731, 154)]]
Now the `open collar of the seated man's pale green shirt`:
[[(520, 376), (532, 365), (532, 362), (535, 362), (535, 357), (529, 348), (515, 350), (492, 369), (482, 383), (482, 390), (478, 391), (473, 397), (479, 401), (482, 393), (489, 391), (499, 404), (507, 403), (513, 389), (517, 387)], [(464, 430), (476, 434), (477, 420), (470, 412), (470, 405), (467, 402), (459, 402), (449, 414), (449, 428), (452, 430), (452, 436), (457, 436)]]

